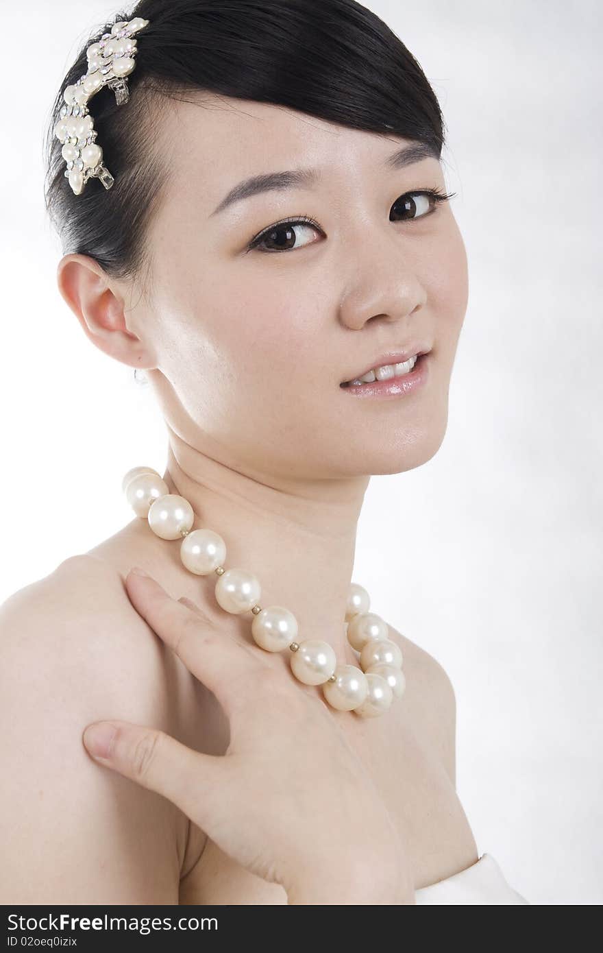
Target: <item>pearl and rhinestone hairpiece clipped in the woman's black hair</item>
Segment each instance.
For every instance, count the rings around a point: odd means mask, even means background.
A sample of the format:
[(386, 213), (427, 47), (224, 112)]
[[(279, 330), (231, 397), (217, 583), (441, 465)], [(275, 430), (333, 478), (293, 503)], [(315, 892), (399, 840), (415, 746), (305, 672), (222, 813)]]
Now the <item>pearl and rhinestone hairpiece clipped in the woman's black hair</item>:
[(141, 16), (114, 23), (111, 33), (103, 33), (100, 40), (87, 49), (88, 72), (63, 91), (66, 105), (61, 107), (61, 118), (54, 133), (63, 143), (61, 154), (67, 162), (65, 176), (76, 195), (84, 191), (91, 175), (99, 178), (106, 189), (111, 189), (114, 179), (103, 165), (103, 150), (94, 142), (97, 133), (88, 112), (88, 100), (103, 86), (109, 86), (118, 106), (128, 102), (126, 76), (136, 65), (133, 34), (148, 24), (149, 20)]

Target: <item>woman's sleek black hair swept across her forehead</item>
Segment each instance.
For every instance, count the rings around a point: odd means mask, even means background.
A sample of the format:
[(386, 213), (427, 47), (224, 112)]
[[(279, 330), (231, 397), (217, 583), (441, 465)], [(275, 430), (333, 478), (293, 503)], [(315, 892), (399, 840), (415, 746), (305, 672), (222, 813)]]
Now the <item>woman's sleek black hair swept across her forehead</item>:
[(111, 189), (90, 178), (83, 193), (71, 191), (54, 126), (63, 90), (86, 73), (87, 48), (112, 24), (90, 36), (63, 80), (45, 146), (46, 209), (63, 253), (90, 255), (111, 277), (140, 277), (151, 265), (146, 227), (170, 175), (153, 128), (162, 103), (191, 91), (400, 136), (441, 158), (444, 120), (425, 74), (395, 33), (354, 0), (140, 0), (113, 22), (134, 16), (150, 23), (138, 36), (130, 100), (117, 106), (104, 87), (90, 104)]

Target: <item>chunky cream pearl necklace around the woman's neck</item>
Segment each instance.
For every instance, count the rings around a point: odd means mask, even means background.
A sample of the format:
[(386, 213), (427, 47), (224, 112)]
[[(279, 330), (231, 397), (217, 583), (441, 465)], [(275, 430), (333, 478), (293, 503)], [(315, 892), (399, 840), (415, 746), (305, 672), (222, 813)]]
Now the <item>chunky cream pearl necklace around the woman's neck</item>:
[(338, 665), (332, 645), (321, 639), (297, 638), (297, 619), (281, 605), (263, 609), (258, 604), (261, 587), (245, 569), (225, 569), (226, 543), (210, 529), (192, 530), (194, 511), (184, 497), (170, 493), (166, 481), (151, 467), (134, 467), (122, 481), (137, 517), (149, 520), (152, 532), (162, 539), (182, 539), (180, 558), (196, 576), (215, 573), (215, 598), (234, 615), (250, 612), (251, 636), (267, 652), (291, 651), (291, 670), (306, 685), (321, 685), (325, 700), (338, 711), (353, 711), (373, 718), (401, 698), (406, 688), (402, 652), (388, 639), (387, 623), (369, 612), (366, 589), (352, 582), (346, 607), (347, 637), (359, 653), (360, 668)]

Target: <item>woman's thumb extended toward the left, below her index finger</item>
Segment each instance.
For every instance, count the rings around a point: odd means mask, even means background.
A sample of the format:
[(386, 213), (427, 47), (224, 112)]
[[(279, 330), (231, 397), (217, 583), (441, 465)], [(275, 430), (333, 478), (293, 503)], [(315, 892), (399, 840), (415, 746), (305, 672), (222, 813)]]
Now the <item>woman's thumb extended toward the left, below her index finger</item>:
[(209, 811), (211, 794), (220, 789), (221, 758), (193, 751), (155, 728), (94, 721), (82, 740), (94, 760), (168, 798), (187, 817), (193, 812), (196, 823), (201, 811)]

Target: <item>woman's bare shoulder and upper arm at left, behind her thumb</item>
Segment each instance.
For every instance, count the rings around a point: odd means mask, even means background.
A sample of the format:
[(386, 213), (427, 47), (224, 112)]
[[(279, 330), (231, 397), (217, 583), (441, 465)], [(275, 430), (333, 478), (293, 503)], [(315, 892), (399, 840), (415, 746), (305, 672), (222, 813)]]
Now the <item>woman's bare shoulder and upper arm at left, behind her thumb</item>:
[(176, 734), (175, 662), (101, 558), (68, 558), (2, 603), (1, 902), (178, 902), (181, 813), (82, 742), (111, 718)]

